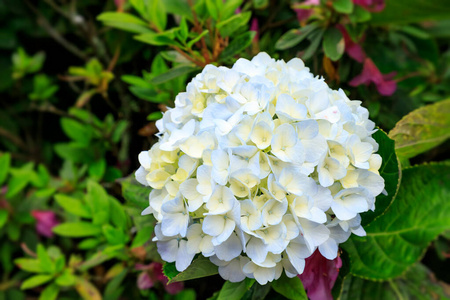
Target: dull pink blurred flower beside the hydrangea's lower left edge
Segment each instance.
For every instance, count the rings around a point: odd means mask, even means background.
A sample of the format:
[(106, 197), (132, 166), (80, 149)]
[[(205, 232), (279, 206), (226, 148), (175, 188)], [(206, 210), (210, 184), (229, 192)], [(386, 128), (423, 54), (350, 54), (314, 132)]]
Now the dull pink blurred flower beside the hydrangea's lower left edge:
[(152, 262), (148, 265), (136, 264), (134, 268), (136, 270), (142, 271), (139, 274), (136, 283), (138, 288), (141, 290), (152, 288), (156, 282), (161, 282), (164, 285), (166, 292), (171, 295), (177, 294), (181, 290), (183, 290), (184, 285), (182, 282), (167, 284), (169, 280), (166, 276), (164, 276), (164, 273), (162, 271), (162, 264), (160, 263)]

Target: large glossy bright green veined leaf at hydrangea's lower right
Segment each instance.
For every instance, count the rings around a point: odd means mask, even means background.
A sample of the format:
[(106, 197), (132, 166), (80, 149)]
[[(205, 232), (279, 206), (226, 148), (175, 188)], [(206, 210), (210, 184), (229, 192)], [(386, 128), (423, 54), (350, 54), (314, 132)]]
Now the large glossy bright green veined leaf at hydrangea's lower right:
[(342, 244), (351, 273), (387, 280), (417, 262), (428, 244), (450, 228), (450, 165), (430, 164), (403, 170), (396, 200), (384, 215)]

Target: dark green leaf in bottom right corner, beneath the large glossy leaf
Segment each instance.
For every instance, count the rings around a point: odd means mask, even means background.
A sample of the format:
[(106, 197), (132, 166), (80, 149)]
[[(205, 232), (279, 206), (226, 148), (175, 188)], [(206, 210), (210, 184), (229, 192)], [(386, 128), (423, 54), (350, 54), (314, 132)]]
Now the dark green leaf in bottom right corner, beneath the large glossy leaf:
[(444, 284), (420, 263), (402, 276), (384, 282), (347, 276), (342, 287), (340, 300), (448, 299)]

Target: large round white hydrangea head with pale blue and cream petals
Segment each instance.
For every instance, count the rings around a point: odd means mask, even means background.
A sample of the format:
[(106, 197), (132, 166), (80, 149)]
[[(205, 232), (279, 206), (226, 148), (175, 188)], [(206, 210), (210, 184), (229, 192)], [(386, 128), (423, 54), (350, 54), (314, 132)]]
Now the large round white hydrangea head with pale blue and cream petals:
[(368, 115), (298, 58), (206, 66), (139, 155), (162, 259), (183, 271), (201, 253), (224, 279), (266, 284), (316, 249), (336, 258), (384, 189)]

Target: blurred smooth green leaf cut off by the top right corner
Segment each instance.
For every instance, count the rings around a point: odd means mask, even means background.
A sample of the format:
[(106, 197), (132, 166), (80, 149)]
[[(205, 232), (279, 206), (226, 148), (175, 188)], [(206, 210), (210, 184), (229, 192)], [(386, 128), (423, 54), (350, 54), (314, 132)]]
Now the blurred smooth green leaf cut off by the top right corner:
[(386, 0), (385, 2), (386, 7), (381, 12), (372, 14), (372, 24), (406, 24), (444, 20), (450, 17), (450, 0)]

